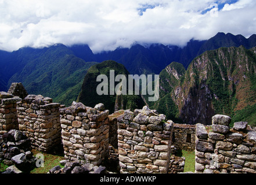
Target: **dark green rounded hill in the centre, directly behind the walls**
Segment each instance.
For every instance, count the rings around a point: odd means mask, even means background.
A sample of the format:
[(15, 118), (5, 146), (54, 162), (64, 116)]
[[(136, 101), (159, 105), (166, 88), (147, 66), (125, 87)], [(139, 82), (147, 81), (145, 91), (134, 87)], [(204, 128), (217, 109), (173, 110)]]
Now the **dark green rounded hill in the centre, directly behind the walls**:
[[(100, 64), (93, 65), (89, 68), (84, 77), (84, 82), (82, 83), (77, 102), (82, 102), (84, 105), (91, 107), (94, 107), (98, 103), (103, 103), (110, 113), (120, 109), (141, 109), (145, 105), (145, 102), (140, 95), (135, 95), (134, 92), (132, 93), (133, 95), (117, 95), (116, 92), (113, 95), (110, 94), (110, 83), (113, 83), (114, 87), (117, 87), (117, 84), (120, 82), (113, 82), (113, 80), (110, 79), (110, 70), (114, 70), (114, 77), (117, 75), (125, 75), (128, 87), (129, 72), (125, 69), (124, 65), (111, 60), (103, 61)], [(97, 87), (103, 83), (101, 81), (96, 81), (99, 75), (107, 76), (107, 95), (99, 95), (97, 92)], [(133, 84), (135, 84), (135, 82), (133, 82)], [(135, 90), (135, 88), (133, 89)]]

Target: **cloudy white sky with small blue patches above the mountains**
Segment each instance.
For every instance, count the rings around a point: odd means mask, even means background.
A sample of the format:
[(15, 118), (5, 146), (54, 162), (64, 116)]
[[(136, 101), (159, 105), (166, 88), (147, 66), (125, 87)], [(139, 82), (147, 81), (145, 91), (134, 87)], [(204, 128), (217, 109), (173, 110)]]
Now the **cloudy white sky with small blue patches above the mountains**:
[(255, 0), (0, 0), (0, 50), (87, 44), (185, 46), (218, 32), (256, 34)]

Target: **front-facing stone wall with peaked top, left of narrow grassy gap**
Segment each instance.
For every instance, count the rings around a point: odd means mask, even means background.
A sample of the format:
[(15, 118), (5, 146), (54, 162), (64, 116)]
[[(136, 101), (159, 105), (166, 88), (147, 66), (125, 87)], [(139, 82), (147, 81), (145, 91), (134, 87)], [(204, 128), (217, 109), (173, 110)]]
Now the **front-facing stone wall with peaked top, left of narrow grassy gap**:
[(172, 121), (155, 110), (125, 110), (118, 117), (120, 173), (168, 173)]

